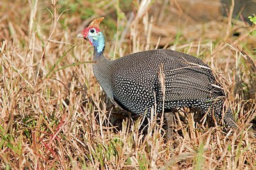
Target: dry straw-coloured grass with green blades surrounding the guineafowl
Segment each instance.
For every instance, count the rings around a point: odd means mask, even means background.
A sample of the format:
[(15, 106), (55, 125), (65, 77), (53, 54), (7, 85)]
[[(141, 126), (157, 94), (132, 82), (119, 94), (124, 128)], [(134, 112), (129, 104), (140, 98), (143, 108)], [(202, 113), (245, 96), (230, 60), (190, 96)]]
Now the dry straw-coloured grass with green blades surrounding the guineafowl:
[[(1, 1), (0, 168), (255, 169), (255, 67), (237, 50), (255, 62), (252, 27), (221, 17), (198, 22), (180, 5)], [(112, 109), (93, 78), (93, 49), (76, 39), (99, 16), (106, 17), (101, 28), (109, 59), (154, 48), (202, 58), (227, 92), (241, 130), (223, 132), (184, 110), (165, 141), (157, 118), (144, 127), (141, 118), (113, 116), (122, 111)]]

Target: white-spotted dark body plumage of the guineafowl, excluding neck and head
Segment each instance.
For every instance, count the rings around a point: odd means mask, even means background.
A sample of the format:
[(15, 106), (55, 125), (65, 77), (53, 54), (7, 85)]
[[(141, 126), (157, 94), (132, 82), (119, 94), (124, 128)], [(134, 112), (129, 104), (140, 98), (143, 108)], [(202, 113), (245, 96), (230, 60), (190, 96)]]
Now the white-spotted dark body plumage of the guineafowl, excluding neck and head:
[(190, 106), (194, 101), (224, 96), (209, 66), (196, 57), (173, 50), (127, 55), (113, 60), (111, 68), (114, 100), (137, 114), (155, 104), (157, 111), (161, 111), (163, 96), (165, 108)]

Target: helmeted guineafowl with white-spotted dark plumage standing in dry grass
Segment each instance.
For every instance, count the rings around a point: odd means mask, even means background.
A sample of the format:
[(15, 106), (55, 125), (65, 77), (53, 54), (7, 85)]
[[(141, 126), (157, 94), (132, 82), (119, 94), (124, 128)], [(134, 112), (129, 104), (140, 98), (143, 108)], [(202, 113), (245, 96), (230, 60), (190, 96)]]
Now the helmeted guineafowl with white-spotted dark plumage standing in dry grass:
[(145, 117), (151, 117), (151, 111), (167, 114), (175, 108), (198, 108), (218, 122), (223, 120), (229, 129), (237, 128), (232, 111), (223, 113), (223, 88), (201, 59), (169, 49), (106, 59), (102, 20), (104, 17), (93, 20), (77, 38), (94, 47), (93, 73), (113, 104)]

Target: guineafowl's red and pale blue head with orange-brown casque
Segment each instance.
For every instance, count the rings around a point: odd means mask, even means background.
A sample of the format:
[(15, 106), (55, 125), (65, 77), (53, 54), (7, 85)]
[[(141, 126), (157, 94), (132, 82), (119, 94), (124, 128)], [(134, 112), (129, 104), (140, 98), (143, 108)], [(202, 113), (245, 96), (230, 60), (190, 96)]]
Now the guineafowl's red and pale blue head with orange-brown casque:
[(102, 20), (104, 20), (104, 17), (93, 20), (88, 27), (77, 34), (77, 38), (84, 38), (85, 40), (88, 39), (90, 44), (95, 47), (99, 46), (99, 43), (102, 43), (101, 41), (104, 43), (104, 37), (99, 28), (100, 22), (102, 22)]

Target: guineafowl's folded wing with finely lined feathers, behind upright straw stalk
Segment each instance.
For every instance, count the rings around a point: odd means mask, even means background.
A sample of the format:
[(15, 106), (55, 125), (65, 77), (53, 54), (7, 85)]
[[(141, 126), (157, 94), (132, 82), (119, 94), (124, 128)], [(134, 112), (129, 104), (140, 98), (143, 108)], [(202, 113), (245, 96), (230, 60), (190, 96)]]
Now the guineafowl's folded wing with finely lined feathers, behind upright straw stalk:
[[(175, 56), (175, 60), (166, 59), (163, 62), (166, 101), (225, 96), (211, 69), (202, 60), (183, 53), (182, 56), (179, 53)], [(169, 62), (173, 64), (166, 64)], [(163, 86), (161, 82), (158, 84), (159, 87)], [(160, 92), (159, 99), (161, 98)]]

